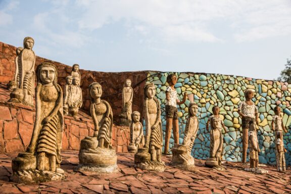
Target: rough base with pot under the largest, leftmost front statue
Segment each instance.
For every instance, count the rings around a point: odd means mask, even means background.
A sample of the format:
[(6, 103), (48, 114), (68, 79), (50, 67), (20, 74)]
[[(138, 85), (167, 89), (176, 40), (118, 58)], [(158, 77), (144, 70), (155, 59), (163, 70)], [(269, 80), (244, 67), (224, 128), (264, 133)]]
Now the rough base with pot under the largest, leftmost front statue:
[(12, 160), (13, 174), (11, 180), (16, 183), (40, 183), (47, 181), (57, 181), (65, 178), (64, 170), (57, 168), (54, 171), (36, 170), (36, 157), (31, 153), (19, 153)]

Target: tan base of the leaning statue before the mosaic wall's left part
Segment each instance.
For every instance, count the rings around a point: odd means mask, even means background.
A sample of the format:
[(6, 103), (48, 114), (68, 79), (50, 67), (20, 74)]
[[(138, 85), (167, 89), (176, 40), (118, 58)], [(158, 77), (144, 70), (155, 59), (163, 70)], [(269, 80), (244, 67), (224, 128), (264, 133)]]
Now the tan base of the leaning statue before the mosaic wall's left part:
[(170, 165), (181, 170), (188, 170), (192, 172), (198, 171), (195, 167), (194, 158), (187, 154), (187, 147), (182, 144), (174, 144), (172, 149), (173, 157)]

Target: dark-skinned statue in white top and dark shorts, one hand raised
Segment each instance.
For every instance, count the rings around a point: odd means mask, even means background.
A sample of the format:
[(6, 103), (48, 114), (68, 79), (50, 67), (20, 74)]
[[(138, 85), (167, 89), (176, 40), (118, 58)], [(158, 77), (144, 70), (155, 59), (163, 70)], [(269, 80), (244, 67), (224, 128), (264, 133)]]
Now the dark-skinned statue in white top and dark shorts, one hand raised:
[(164, 154), (169, 154), (169, 141), (171, 137), (171, 130), (173, 127), (174, 143), (179, 143), (179, 123), (178, 123), (178, 109), (177, 105), (184, 104), (186, 101), (186, 92), (184, 92), (184, 98), (180, 102), (178, 99), (175, 84), (177, 83), (177, 77), (175, 74), (169, 74), (167, 76), (167, 83), (169, 86), (166, 89), (166, 135), (165, 135), (165, 148)]

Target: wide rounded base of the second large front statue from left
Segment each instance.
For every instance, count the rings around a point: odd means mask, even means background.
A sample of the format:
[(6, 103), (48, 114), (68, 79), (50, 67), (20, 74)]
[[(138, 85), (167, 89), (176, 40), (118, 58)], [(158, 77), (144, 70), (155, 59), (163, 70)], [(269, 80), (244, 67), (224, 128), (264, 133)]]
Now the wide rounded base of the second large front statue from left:
[(75, 171), (98, 175), (119, 172), (114, 149), (99, 148), (96, 137), (87, 136), (81, 140), (79, 151), (80, 164)]

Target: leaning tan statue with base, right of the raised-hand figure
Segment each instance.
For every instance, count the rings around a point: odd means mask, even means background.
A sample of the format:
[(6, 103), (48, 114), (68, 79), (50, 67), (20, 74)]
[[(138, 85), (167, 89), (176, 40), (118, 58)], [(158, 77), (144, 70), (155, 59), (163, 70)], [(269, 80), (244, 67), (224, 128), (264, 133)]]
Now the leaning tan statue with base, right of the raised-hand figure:
[(197, 171), (194, 158), (191, 156), (191, 150), (199, 129), (199, 120), (196, 116), (198, 105), (195, 102), (191, 102), (188, 107), (189, 116), (184, 131), (183, 143), (174, 144), (171, 165), (183, 170)]

